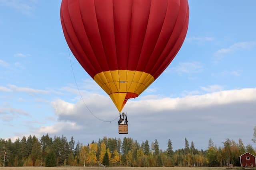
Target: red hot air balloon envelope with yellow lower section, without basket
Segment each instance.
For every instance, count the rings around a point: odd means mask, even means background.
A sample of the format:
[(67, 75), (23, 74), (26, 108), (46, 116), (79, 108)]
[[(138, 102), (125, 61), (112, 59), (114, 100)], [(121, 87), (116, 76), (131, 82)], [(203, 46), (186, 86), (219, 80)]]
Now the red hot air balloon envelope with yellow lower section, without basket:
[(62, 0), (64, 36), (119, 111), (171, 63), (186, 37), (187, 0)]

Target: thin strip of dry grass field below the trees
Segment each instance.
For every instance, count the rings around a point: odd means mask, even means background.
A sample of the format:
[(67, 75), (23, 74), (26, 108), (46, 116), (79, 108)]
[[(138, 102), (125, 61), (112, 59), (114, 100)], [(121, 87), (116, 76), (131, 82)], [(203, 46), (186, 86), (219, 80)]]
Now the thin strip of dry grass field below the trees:
[[(226, 170), (231, 168), (224, 167), (0, 167), (0, 170)], [(232, 169), (241, 170), (240, 167)], [(254, 170), (256, 170), (254, 168)]]

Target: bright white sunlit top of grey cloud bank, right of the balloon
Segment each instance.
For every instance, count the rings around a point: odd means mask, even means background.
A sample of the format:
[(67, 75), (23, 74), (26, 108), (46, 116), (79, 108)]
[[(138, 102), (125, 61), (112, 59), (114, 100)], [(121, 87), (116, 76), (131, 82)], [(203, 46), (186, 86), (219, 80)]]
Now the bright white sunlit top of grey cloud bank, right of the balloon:
[[(204, 90), (216, 90), (220, 87), (205, 88)], [(130, 107), (143, 106), (144, 109), (154, 111), (164, 110), (188, 110), (192, 108), (212, 107), (236, 102), (256, 101), (256, 88), (242, 90), (225, 90), (200, 96), (186, 96), (184, 98), (162, 98), (159, 100), (144, 100), (130, 102)], [(137, 108), (139, 109), (139, 108)]]

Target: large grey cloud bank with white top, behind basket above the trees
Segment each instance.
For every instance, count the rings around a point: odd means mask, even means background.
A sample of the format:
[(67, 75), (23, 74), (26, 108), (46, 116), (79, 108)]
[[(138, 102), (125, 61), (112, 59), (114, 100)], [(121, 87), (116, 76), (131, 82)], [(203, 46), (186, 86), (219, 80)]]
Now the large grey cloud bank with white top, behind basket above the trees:
[[(138, 100), (129, 100), (123, 109), (128, 112), (128, 136), (140, 142), (156, 138), (160, 146), (164, 147), (168, 138), (175, 136), (172, 141), (176, 148), (184, 147), (180, 142), (184, 137), (194, 141), (199, 148), (207, 148), (210, 137), (216, 140), (218, 146), (226, 138), (237, 137), (250, 142), (251, 137), (246, 139), (250, 132), (242, 132), (253, 129), (253, 120), (243, 118), (255, 114), (256, 88), (219, 91), (221, 89), (221, 86), (214, 85), (202, 87), (201, 90), (218, 92), (199, 95), (195, 91), (194, 96), (190, 94), (182, 98), (150, 95), (148, 98), (144, 96)], [(118, 117), (118, 111), (108, 96), (92, 94), (84, 100), (92, 113), (100, 119), (108, 121)], [(52, 102), (52, 107), (58, 122), (41, 127), (35, 133), (72, 135), (81, 143), (118, 135), (117, 120), (113, 123), (99, 121), (82, 101), (73, 104), (59, 99)]]

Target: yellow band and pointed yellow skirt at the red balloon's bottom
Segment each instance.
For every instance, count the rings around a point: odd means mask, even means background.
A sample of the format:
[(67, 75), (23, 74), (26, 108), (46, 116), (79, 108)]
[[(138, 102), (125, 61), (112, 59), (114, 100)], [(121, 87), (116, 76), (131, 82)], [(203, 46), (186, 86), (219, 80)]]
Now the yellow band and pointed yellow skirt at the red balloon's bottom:
[(142, 71), (112, 70), (96, 74), (94, 80), (121, 111), (127, 93), (139, 96), (155, 79)]

